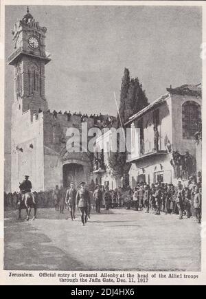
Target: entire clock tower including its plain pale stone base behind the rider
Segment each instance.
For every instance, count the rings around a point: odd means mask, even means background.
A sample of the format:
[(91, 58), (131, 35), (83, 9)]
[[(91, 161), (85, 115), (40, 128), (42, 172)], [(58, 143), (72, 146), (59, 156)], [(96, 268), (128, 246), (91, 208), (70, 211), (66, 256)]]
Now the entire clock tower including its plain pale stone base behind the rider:
[(46, 27), (30, 14), (14, 24), (14, 50), (8, 58), (14, 67), (14, 100), (11, 126), (11, 188), (18, 190), (24, 175), (30, 175), (34, 190), (44, 189), (44, 123)]

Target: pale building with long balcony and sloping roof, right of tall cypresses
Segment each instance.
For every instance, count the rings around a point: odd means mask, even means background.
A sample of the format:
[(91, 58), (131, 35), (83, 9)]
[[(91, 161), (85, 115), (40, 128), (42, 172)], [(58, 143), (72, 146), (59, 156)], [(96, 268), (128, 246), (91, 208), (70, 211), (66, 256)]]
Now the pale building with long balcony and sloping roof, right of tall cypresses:
[(168, 88), (167, 93), (130, 117), (130, 186), (164, 181), (176, 184), (196, 173), (195, 133), (201, 121), (201, 85)]

